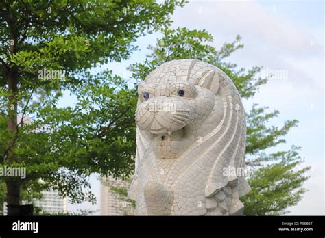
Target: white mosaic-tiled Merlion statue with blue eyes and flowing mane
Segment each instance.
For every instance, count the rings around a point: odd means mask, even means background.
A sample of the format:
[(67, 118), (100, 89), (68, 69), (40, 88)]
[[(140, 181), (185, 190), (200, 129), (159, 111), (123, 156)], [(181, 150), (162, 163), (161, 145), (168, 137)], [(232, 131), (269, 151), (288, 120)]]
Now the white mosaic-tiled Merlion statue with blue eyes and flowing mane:
[(162, 64), (139, 83), (136, 125), (136, 215), (243, 214), (250, 186), (227, 170), (245, 166), (245, 112), (224, 72), (195, 59)]

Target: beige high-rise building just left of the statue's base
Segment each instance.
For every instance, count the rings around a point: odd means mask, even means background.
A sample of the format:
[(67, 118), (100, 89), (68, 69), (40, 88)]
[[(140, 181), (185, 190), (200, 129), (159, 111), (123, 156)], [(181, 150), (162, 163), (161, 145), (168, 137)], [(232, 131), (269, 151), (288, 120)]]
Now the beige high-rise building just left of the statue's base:
[(112, 187), (126, 189), (128, 186), (127, 181), (111, 176), (101, 177), (100, 215), (133, 215), (134, 209), (130, 202), (119, 198), (120, 195), (112, 191)]

